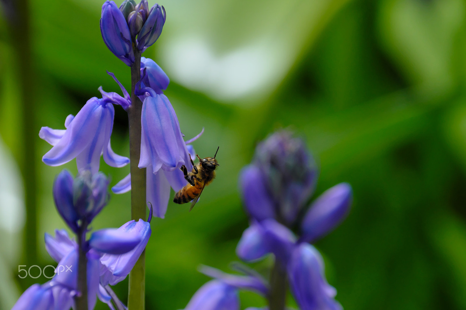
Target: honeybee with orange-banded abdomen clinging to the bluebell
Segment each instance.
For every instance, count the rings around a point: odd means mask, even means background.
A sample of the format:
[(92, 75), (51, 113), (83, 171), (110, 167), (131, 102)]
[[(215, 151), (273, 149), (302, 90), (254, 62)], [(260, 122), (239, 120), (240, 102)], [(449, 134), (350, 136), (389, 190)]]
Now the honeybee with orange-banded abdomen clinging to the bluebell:
[[(220, 147), (217, 148), (217, 152), (219, 151), (219, 148)], [(206, 157), (204, 159), (200, 158), (199, 155), (196, 154), (199, 158), (199, 163), (197, 165), (194, 165), (194, 162), (191, 159), (191, 154), (189, 154), (189, 159), (192, 163), (192, 171), (188, 173), (185, 165), (180, 168), (185, 174), (185, 179), (188, 181), (188, 184), (175, 194), (173, 202), (182, 204), (192, 201), (191, 208), (189, 208), (190, 211), (192, 210), (196, 202), (198, 202), (199, 196), (202, 194), (204, 188), (215, 178), (215, 168), (220, 166), (215, 159), (217, 152), (215, 152), (213, 157)]]

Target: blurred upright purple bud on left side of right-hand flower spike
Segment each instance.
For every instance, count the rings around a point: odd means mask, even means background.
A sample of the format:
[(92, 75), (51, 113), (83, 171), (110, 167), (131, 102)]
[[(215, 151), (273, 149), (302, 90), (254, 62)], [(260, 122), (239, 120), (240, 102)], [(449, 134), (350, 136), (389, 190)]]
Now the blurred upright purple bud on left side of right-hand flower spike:
[(267, 192), (260, 169), (254, 165), (240, 172), (240, 186), (247, 212), (258, 221), (274, 218), (274, 202)]

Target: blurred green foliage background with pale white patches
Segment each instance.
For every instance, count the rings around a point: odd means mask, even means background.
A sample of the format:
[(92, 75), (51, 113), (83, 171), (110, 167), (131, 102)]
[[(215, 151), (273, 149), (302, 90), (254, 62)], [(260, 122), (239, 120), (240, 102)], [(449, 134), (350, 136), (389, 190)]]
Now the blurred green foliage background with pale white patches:
[[(21, 89), (5, 19), (0, 20), (0, 309), (28, 285), (18, 98), (34, 91), (34, 132), (64, 128), (99, 86), (130, 89), (130, 69), (105, 47), (102, 1), (30, 0), (35, 88)], [(150, 2), (150, 5), (153, 3)], [(217, 156), (215, 182), (192, 212), (170, 202), (152, 222), (146, 308), (182, 309), (208, 278), (229, 271), (248, 219), (238, 172), (258, 141), (291, 128), (320, 167), (316, 195), (338, 182), (354, 189), (348, 219), (316, 244), (346, 310), (466, 309), (466, 2), (464, 0), (165, 0), (167, 21), (145, 53), (170, 76), (171, 100), (201, 157)], [(119, 5), (119, 2), (117, 3)], [(3, 14), (2, 14), (3, 15)], [(112, 146), (128, 155), (127, 116), (116, 107)], [(50, 146), (36, 135), (35, 263), (55, 263), (44, 232), (65, 228), (52, 200)], [(34, 166), (34, 165), (32, 165)], [(129, 167), (111, 168), (111, 185)], [(28, 173), (23, 174), (28, 178)], [(34, 174), (32, 174), (34, 175)], [(172, 193), (173, 194), (173, 193)], [(130, 194), (112, 195), (93, 228), (130, 219)], [(29, 253), (30, 255), (30, 253)], [(265, 272), (270, 258), (256, 267)], [(27, 266), (28, 268), (29, 266)], [(51, 273), (48, 270), (48, 275)], [(33, 268), (36, 275), (38, 270)], [(126, 301), (127, 280), (115, 290)], [(242, 309), (266, 301), (241, 293)], [(292, 298), (289, 304), (293, 305)], [(98, 302), (96, 309), (106, 309)]]

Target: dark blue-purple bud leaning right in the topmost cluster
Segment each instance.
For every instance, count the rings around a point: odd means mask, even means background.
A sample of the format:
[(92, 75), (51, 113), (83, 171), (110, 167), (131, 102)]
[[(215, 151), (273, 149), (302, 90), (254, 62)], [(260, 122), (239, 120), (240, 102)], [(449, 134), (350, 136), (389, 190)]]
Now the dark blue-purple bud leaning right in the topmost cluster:
[(165, 13), (165, 8), (155, 4), (151, 7), (149, 16), (144, 22), (144, 26), (139, 31), (137, 35), (137, 49), (144, 51), (146, 47), (150, 47), (158, 39), (162, 33), (162, 28), (164, 27), (165, 19), (167, 15)]

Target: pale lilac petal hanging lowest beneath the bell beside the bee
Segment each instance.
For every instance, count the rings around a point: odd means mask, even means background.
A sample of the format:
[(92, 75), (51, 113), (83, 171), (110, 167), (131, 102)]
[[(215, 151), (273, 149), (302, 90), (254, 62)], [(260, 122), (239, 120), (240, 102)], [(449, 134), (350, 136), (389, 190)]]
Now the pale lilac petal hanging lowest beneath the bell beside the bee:
[(154, 216), (164, 218), (170, 199), (170, 183), (165, 177), (164, 171), (156, 174), (150, 173), (148, 167), (146, 173), (146, 201), (151, 202), (154, 208)]

